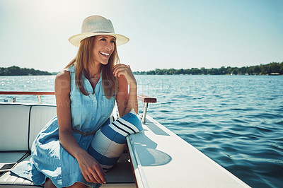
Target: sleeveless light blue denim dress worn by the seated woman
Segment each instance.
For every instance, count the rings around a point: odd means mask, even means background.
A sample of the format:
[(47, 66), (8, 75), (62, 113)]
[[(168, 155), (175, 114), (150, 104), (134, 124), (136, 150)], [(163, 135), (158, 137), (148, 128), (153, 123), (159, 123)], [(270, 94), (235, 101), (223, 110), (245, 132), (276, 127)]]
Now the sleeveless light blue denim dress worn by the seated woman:
[[(75, 67), (67, 69), (71, 74), (71, 122), (73, 129), (83, 132), (97, 131), (106, 122), (115, 105), (115, 98), (108, 100), (103, 92), (102, 77), (96, 85), (94, 95), (83, 95), (76, 87)], [(83, 76), (84, 87), (88, 93), (93, 93), (91, 83)], [(79, 146), (85, 151), (93, 139), (93, 135), (82, 136), (73, 132)], [(30, 163), (18, 165), (13, 169), (16, 175), (25, 177), (35, 184), (45, 183), (49, 177), (56, 187), (68, 187), (75, 182), (83, 182), (91, 187), (100, 184), (86, 182), (79, 164), (59, 143), (57, 117), (54, 117), (38, 134), (33, 142)]]

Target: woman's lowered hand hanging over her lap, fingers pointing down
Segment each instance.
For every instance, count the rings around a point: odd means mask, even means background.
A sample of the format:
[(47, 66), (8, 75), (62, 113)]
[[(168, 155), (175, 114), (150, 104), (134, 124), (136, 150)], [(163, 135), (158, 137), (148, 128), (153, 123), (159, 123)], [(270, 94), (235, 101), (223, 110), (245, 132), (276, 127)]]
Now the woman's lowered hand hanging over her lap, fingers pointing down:
[(98, 161), (88, 153), (81, 153), (76, 158), (81, 169), (81, 174), (87, 182), (105, 184), (105, 172)]

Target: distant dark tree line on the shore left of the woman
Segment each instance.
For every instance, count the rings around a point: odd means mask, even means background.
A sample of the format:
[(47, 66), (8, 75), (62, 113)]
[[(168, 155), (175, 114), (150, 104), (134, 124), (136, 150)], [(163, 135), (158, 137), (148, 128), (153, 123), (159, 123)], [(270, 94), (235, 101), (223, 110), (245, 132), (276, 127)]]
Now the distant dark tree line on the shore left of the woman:
[(27, 75), (52, 75), (52, 74), (47, 71), (20, 68), (18, 66), (10, 66), (8, 68), (0, 67), (0, 76), (27, 76)]

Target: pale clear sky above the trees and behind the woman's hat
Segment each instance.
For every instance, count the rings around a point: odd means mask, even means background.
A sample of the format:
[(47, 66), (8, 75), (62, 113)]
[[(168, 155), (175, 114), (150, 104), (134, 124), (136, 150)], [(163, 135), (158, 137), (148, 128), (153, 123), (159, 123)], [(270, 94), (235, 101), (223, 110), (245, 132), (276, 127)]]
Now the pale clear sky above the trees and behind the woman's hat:
[(0, 66), (62, 70), (91, 15), (129, 37), (118, 54), (133, 71), (283, 61), (282, 0), (0, 0)]

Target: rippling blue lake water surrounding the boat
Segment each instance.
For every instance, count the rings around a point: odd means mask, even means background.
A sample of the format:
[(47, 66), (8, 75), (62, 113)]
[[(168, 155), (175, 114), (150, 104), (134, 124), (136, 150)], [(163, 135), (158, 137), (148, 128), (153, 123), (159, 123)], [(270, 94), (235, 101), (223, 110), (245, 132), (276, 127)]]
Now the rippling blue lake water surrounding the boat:
[[(138, 93), (157, 98), (151, 117), (251, 187), (282, 187), (283, 76), (136, 78)], [(53, 91), (54, 76), (0, 76), (0, 90)], [(16, 100), (37, 102), (29, 95)], [(42, 101), (54, 103), (54, 96)]]

